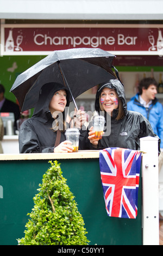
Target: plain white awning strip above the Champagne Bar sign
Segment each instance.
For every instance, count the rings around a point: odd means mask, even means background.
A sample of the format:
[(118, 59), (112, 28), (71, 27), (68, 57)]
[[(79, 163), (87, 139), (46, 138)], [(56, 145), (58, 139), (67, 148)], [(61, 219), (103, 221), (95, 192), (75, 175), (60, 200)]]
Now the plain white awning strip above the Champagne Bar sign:
[(0, 0), (0, 19), (162, 20), (162, 10), (162, 0)]

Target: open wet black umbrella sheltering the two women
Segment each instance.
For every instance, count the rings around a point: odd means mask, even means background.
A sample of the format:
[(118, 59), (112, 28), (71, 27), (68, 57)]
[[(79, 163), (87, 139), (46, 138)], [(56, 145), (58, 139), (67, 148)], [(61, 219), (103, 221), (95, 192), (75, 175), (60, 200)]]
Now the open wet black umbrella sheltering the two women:
[[(10, 92), (21, 111), (35, 107), (43, 84), (57, 82), (70, 90), (71, 100), (99, 83), (116, 79), (111, 70), (114, 55), (99, 48), (54, 51), (17, 76)], [(77, 108), (78, 109), (78, 108)]]

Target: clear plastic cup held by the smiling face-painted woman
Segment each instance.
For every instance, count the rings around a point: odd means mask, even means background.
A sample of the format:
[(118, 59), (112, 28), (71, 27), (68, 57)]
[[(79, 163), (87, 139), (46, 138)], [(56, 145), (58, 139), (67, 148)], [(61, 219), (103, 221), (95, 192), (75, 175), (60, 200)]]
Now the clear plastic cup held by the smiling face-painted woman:
[(95, 115), (92, 119), (93, 131), (95, 138), (101, 139), (103, 136), (105, 118), (102, 115)]

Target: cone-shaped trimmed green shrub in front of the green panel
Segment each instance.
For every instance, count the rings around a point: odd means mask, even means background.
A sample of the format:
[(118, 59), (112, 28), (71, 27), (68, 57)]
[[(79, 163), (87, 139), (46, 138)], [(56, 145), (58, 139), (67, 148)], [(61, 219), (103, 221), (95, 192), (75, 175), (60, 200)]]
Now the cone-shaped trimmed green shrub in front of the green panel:
[(51, 167), (43, 175), (34, 208), (28, 214), (25, 236), (19, 245), (88, 245), (84, 221), (79, 213), (60, 164), (49, 161)]

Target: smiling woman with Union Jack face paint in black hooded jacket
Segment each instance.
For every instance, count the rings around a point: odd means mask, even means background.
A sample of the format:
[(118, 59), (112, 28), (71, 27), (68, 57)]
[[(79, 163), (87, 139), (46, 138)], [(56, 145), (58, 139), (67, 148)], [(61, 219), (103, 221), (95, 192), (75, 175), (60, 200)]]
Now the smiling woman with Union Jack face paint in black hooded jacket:
[(100, 85), (96, 94), (95, 109), (104, 115), (105, 127), (102, 139), (95, 138), (92, 126), (90, 127), (90, 149), (120, 147), (140, 150), (141, 137), (158, 138), (143, 115), (127, 110), (124, 87), (118, 80), (110, 80)]

